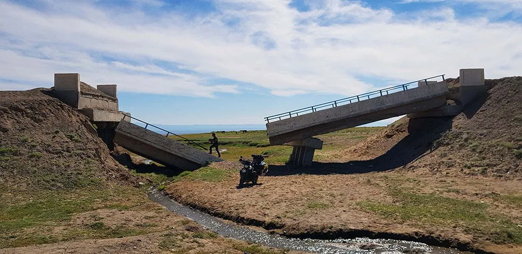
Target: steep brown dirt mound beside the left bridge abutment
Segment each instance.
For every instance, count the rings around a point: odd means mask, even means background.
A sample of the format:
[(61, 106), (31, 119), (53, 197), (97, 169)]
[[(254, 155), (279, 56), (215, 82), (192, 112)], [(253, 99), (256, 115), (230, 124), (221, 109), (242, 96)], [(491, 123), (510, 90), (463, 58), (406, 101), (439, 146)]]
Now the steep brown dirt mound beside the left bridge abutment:
[(23, 188), (75, 188), (110, 180), (135, 185), (87, 117), (47, 89), (0, 91), (0, 182)]

